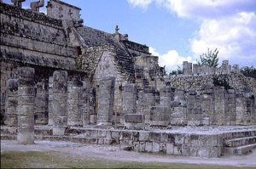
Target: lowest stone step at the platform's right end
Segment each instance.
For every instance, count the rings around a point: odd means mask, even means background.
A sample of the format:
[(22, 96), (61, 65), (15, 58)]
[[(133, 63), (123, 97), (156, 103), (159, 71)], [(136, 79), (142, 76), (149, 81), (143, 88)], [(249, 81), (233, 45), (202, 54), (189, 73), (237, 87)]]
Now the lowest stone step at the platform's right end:
[(224, 147), (224, 155), (247, 155), (256, 149), (256, 144), (247, 144), (239, 147)]

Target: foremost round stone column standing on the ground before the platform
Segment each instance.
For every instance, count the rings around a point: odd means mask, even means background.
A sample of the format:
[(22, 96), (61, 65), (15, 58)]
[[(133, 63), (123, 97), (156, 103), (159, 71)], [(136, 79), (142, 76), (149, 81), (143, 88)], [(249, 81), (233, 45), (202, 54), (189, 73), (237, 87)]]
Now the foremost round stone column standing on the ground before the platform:
[(34, 69), (20, 67), (18, 69), (18, 136), (20, 144), (34, 143), (34, 109), (35, 88)]

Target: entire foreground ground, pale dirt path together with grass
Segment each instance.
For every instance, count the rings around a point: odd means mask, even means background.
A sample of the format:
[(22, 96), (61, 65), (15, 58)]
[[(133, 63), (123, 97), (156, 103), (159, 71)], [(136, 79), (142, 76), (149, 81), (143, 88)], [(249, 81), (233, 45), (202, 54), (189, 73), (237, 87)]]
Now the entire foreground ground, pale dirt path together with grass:
[(119, 146), (51, 141), (20, 145), (15, 140), (1, 140), (1, 168), (234, 168), (235, 166), (256, 168), (255, 159), (255, 150), (250, 155), (201, 158), (137, 153), (124, 151), (119, 149)]

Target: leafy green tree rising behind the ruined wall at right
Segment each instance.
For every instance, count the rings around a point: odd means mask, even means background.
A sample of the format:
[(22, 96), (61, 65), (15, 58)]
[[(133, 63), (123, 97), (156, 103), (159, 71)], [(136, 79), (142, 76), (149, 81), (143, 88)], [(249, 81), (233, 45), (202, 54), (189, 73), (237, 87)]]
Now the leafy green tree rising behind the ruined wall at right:
[(209, 65), (211, 67), (218, 66), (218, 48), (210, 50), (208, 48), (207, 53), (200, 55), (200, 61), (197, 60), (198, 65)]

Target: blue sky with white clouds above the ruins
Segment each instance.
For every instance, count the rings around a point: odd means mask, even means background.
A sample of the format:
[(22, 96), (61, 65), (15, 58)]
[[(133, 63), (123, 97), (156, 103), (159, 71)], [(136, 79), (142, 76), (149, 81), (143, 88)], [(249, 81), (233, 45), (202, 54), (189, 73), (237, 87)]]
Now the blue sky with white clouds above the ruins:
[[(26, 0), (23, 8), (34, 1)], [(47, 0), (45, 0), (47, 2)], [(256, 67), (256, 0), (63, 0), (82, 8), (84, 25), (128, 34), (159, 56), (166, 70), (196, 63), (207, 48), (219, 64)], [(10, 0), (3, 0), (10, 3)], [(47, 4), (47, 3), (45, 3)], [(45, 8), (41, 12), (46, 12)]]

